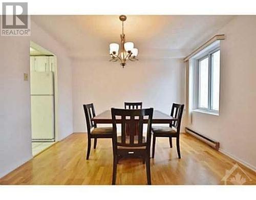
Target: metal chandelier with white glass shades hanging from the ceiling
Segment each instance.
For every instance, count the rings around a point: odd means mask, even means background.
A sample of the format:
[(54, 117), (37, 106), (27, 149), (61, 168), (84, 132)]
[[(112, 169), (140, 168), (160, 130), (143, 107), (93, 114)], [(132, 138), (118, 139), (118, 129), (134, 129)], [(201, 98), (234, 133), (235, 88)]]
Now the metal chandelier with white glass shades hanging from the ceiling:
[(134, 48), (134, 43), (129, 41), (125, 42), (125, 35), (123, 33), (123, 21), (126, 20), (125, 15), (120, 15), (119, 19), (122, 21), (122, 34), (120, 35), (121, 37), (121, 51), (119, 51), (119, 45), (118, 43), (111, 43), (110, 44), (110, 56), (111, 60), (110, 61), (120, 61), (121, 66), (124, 67), (126, 64), (127, 60), (131, 61), (136, 61), (138, 60), (136, 56), (138, 55), (138, 49)]

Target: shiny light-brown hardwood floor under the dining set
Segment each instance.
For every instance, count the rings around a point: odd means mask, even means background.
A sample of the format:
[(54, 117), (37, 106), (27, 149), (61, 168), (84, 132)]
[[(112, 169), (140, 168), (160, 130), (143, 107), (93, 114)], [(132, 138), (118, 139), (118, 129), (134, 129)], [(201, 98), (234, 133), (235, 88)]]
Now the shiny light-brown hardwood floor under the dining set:
[[(226, 170), (236, 163), (188, 134), (181, 134), (180, 145), (182, 158), (179, 160), (175, 142), (173, 148), (169, 148), (168, 139), (157, 138), (155, 159), (151, 159), (153, 185), (224, 184), (221, 180)], [(245, 177), (244, 184), (256, 184), (256, 173), (239, 166), (248, 176), (239, 168), (234, 175), (240, 173)], [(0, 184), (110, 185), (112, 167), (111, 139), (98, 139), (97, 148), (92, 148), (90, 159), (86, 160), (86, 134), (72, 134), (7, 174), (0, 179)], [(121, 160), (116, 184), (146, 184), (142, 161)]]

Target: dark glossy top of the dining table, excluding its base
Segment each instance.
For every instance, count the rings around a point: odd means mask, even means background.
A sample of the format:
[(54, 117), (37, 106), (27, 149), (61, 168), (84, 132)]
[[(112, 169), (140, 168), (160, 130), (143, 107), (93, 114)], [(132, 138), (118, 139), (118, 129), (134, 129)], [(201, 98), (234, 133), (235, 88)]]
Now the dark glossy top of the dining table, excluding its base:
[[(144, 119), (144, 123), (147, 123), (147, 119)], [(153, 120), (152, 123), (154, 124), (168, 124), (168, 123), (172, 123), (173, 121), (177, 121), (178, 119), (169, 116), (165, 113), (162, 113), (159, 110), (154, 110), (153, 113)], [(103, 113), (95, 116), (92, 121), (94, 121), (96, 124), (100, 123), (100, 124), (111, 124), (112, 123), (112, 117), (111, 117), (111, 110), (105, 110)], [(117, 118), (117, 122), (118, 122), (118, 118)]]

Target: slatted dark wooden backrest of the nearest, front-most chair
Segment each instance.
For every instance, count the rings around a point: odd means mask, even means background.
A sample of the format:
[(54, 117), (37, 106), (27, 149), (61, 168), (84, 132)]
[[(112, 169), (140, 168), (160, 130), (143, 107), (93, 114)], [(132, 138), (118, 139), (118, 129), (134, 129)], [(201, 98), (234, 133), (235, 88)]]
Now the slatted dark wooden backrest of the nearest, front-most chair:
[[(153, 108), (116, 109), (111, 108), (113, 120), (113, 148), (117, 146), (142, 147), (150, 149)], [(143, 121), (147, 120), (147, 134), (143, 137)], [(117, 124), (121, 124), (121, 136), (117, 136)], [(129, 132), (126, 132), (129, 126)]]

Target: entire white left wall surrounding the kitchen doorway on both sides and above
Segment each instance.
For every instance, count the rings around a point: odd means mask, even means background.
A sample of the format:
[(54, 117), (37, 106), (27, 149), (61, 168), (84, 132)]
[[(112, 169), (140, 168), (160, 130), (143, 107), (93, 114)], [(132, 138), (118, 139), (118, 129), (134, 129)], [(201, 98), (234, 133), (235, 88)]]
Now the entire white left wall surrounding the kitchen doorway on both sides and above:
[(53, 52), (58, 59), (59, 139), (73, 132), (72, 71), (65, 49), (31, 21), (30, 37), (0, 36), (1, 139), (0, 177), (32, 158), (29, 73), (30, 40)]

